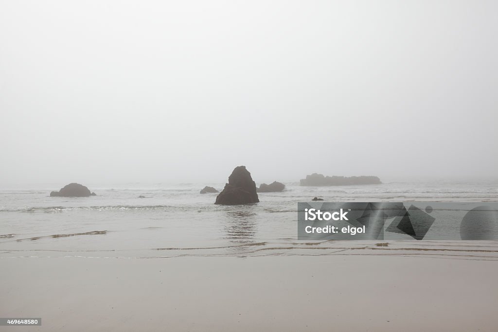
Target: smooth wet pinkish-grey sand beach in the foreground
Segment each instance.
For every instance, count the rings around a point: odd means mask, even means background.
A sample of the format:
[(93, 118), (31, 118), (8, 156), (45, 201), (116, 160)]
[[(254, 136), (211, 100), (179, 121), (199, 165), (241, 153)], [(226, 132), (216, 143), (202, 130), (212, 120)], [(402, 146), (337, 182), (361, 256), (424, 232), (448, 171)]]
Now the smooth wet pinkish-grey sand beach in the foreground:
[(496, 261), (3, 258), (0, 331), (497, 331)]

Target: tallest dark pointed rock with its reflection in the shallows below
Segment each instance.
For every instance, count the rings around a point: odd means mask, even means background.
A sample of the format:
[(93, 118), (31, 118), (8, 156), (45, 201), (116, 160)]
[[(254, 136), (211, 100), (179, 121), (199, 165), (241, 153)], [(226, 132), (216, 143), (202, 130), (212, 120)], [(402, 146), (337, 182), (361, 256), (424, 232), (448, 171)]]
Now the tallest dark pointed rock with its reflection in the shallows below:
[(223, 191), (216, 196), (215, 204), (240, 205), (258, 203), (256, 184), (246, 166), (237, 166), (228, 177)]

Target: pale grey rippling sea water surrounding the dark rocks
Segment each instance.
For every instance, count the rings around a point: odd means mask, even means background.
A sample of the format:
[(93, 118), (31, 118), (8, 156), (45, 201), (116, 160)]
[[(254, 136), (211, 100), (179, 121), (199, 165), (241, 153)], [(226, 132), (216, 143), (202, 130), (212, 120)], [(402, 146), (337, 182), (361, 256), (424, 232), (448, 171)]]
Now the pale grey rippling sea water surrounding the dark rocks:
[(60, 184), (0, 187), (0, 258), (379, 254), (372, 248), (410, 249), (403, 253), (417, 255), (417, 249), (427, 253), (443, 247), (457, 248), (460, 257), (498, 256), (496, 241), (297, 240), (297, 203), (313, 197), (325, 202), (497, 202), (498, 181), (333, 187), (294, 182), (286, 183), (283, 192), (259, 193), (260, 203), (242, 206), (214, 205), (217, 194), (199, 193), (205, 185), (221, 191), (223, 183), (86, 185), (97, 196), (50, 197)]

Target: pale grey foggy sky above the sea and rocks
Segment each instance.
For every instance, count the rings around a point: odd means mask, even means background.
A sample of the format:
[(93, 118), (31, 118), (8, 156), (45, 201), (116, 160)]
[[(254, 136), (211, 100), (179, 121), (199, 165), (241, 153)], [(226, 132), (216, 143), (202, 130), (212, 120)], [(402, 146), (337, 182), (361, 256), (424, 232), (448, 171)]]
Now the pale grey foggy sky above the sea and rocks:
[(497, 1), (0, 1), (0, 183), (493, 177)]

